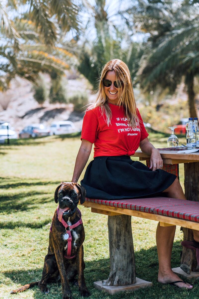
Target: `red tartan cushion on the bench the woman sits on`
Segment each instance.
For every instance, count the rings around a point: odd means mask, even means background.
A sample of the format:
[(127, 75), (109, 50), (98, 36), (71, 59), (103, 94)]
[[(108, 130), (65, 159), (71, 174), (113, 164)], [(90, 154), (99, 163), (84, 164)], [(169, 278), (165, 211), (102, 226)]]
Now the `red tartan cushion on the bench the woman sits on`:
[(141, 211), (162, 216), (199, 222), (199, 202), (168, 197), (151, 197), (139, 199), (90, 199), (87, 202), (98, 203), (116, 208)]

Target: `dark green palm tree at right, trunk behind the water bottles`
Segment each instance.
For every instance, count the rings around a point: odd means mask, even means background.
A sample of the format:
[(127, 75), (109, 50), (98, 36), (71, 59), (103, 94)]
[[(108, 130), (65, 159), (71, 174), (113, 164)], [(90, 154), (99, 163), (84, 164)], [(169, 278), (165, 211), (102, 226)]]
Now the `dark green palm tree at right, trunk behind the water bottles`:
[(142, 16), (144, 11), (146, 18), (139, 19), (142, 18), (140, 11), (133, 7), (137, 13), (134, 18), (141, 22), (141, 30), (150, 32), (147, 42), (143, 43), (145, 50), (138, 76), (140, 86), (144, 91), (161, 87), (173, 93), (184, 80), (189, 114), (196, 117), (194, 77), (199, 74), (199, 24), (196, 18), (199, 4), (190, 5), (186, 1), (181, 4), (165, 1), (167, 5), (139, 2)]

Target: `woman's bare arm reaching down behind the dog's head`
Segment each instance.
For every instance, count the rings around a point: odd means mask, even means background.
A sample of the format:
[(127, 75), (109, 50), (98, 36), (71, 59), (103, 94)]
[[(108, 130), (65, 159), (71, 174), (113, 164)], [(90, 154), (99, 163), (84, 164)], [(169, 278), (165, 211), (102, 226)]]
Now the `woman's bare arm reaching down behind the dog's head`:
[(88, 158), (90, 156), (90, 152), (92, 149), (92, 143), (85, 139), (81, 140), (81, 146), (79, 148), (77, 158), (75, 161), (75, 168), (72, 176), (72, 182), (77, 183), (84, 167), (87, 164)]

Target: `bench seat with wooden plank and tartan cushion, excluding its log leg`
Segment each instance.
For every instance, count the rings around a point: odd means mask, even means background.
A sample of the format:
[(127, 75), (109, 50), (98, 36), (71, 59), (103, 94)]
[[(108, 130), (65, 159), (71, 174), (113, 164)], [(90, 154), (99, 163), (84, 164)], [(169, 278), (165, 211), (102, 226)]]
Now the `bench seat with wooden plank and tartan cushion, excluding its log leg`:
[(83, 205), (94, 208), (95, 213), (104, 214), (105, 210), (199, 230), (199, 202), (166, 197), (125, 200), (86, 198)]

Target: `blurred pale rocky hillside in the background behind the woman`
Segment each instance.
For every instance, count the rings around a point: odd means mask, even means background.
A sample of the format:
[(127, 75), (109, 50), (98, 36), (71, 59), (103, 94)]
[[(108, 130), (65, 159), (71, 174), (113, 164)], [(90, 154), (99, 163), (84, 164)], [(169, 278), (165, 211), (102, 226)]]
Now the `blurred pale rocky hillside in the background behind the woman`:
[[(50, 86), (50, 79), (44, 77), (46, 86)], [(89, 102), (95, 101), (92, 86), (81, 75), (67, 75), (64, 81), (67, 97), (76, 93), (87, 93)], [(11, 88), (6, 93), (0, 93), (0, 121), (8, 121), (17, 132), (31, 123), (43, 123), (50, 126), (53, 121), (70, 120), (81, 129), (84, 113), (73, 112), (72, 104), (39, 105), (33, 98), (32, 84), (24, 79), (16, 78), (11, 82)], [(187, 94), (182, 83), (172, 96), (159, 97), (152, 94), (151, 99), (134, 89), (135, 99), (142, 118), (151, 123), (152, 128), (161, 132), (170, 132), (167, 128), (178, 123), (181, 118), (189, 117)], [(196, 100), (199, 111), (199, 101)], [(3, 109), (4, 107), (4, 109)], [(86, 108), (85, 108), (86, 109)], [(176, 113), (177, 112), (177, 113)]]

